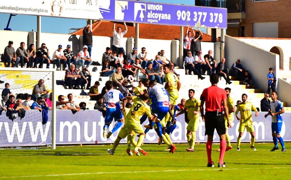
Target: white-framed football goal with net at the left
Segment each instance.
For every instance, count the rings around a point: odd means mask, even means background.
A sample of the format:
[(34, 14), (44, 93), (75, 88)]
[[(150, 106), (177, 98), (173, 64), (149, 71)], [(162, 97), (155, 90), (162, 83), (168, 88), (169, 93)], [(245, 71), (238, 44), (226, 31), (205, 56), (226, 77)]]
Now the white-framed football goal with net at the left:
[[(8, 96), (1, 96), (0, 113), (0, 147), (21, 147), (21, 146), (44, 146), (51, 144), (52, 149), (56, 149), (56, 72), (55, 69), (41, 68), (0, 68), (1, 92), (5, 89), (5, 84), (9, 83), (9, 90), (15, 97), (25, 101), (25, 93), (32, 95), (33, 87), (40, 79), (45, 81), (45, 87), (52, 93), (52, 107), (45, 113), (38, 110), (27, 110), (24, 112), (18, 109), (5, 110), (3, 106)], [(5, 94), (5, 93), (4, 93)], [(18, 95), (18, 96), (17, 96)], [(25, 102), (26, 103), (26, 102)], [(28, 102), (30, 105), (32, 101)], [(3, 108), (2, 108), (3, 107)], [(9, 113), (8, 113), (9, 111)], [(16, 112), (16, 113), (15, 113)], [(11, 113), (15, 113), (10, 116)], [(24, 116), (24, 117), (22, 117)], [(43, 117), (47, 117), (47, 123)], [(50, 138), (50, 139), (49, 139)]]

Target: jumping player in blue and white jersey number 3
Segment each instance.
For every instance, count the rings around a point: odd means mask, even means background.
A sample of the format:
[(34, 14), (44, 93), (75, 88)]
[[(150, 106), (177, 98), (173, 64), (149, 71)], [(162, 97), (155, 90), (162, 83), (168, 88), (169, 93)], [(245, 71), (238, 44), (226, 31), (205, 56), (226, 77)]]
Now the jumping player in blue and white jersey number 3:
[[(103, 137), (109, 138), (113, 132), (118, 130), (121, 127), (124, 117), (123, 113), (120, 110), (120, 99), (123, 99), (124, 96), (121, 94), (119, 90), (113, 89), (112, 81), (107, 81), (105, 83), (108, 91), (104, 95), (104, 99), (106, 102), (106, 115), (105, 115), (105, 125), (103, 127)], [(111, 124), (113, 118), (117, 121), (112, 131), (108, 132), (107, 129)]]

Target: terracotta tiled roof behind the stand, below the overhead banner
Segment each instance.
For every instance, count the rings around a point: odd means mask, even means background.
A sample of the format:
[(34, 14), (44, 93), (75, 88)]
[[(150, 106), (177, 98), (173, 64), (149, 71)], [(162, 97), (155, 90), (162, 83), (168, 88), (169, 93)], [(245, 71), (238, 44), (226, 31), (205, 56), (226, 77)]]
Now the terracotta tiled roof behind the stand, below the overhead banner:
[[(121, 26), (124, 29), (122, 22), (116, 22), (116, 27)], [(92, 24), (93, 36), (107, 36), (112, 37), (113, 22), (98, 20)], [(128, 32), (124, 37), (135, 38), (135, 27), (133, 23), (127, 23)], [(184, 33), (187, 27), (184, 27)], [(72, 34), (82, 35), (83, 28), (73, 32)], [(194, 30), (195, 31), (195, 30)], [(196, 32), (196, 31), (195, 31)], [(165, 25), (150, 25), (139, 24), (139, 38), (142, 39), (162, 39), (162, 40), (174, 40), (180, 39), (180, 27), (179, 26), (165, 26)], [(211, 42), (211, 36), (203, 33), (202, 41)]]

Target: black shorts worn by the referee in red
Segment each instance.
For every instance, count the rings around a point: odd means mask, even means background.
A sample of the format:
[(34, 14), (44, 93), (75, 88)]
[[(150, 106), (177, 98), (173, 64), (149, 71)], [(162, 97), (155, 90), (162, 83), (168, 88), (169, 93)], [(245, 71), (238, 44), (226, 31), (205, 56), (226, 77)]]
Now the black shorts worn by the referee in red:
[(218, 116), (216, 112), (206, 112), (205, 116), (205, 135), (213, 136), (214, 129), (216, 129), (218, 135), (226, 133), (225, 120), (222, 113)]

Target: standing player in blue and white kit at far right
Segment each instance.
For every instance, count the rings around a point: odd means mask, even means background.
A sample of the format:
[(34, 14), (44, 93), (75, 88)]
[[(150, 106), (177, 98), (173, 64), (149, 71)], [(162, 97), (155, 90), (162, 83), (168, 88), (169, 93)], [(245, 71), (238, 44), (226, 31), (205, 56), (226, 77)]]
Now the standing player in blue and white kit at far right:
[(281, 101), (277, 99), (278, 93), (276, 91), (272, 92), (271, 98), (272, 101), (270, 102), (271, 110), (268, 114), (265, 115), (265, 118), (268, 115), (272, 116), (272, 136), (274, 141), (274, 148), (271, 151), (278, 150), (278, 140), (282, 146), (281, 152), (286, 152), (286, 148), (284, 145), (283, 138), (280, 136), (281, 128), (283, 124), (282, 114), (285, 113), (285, 109)]

